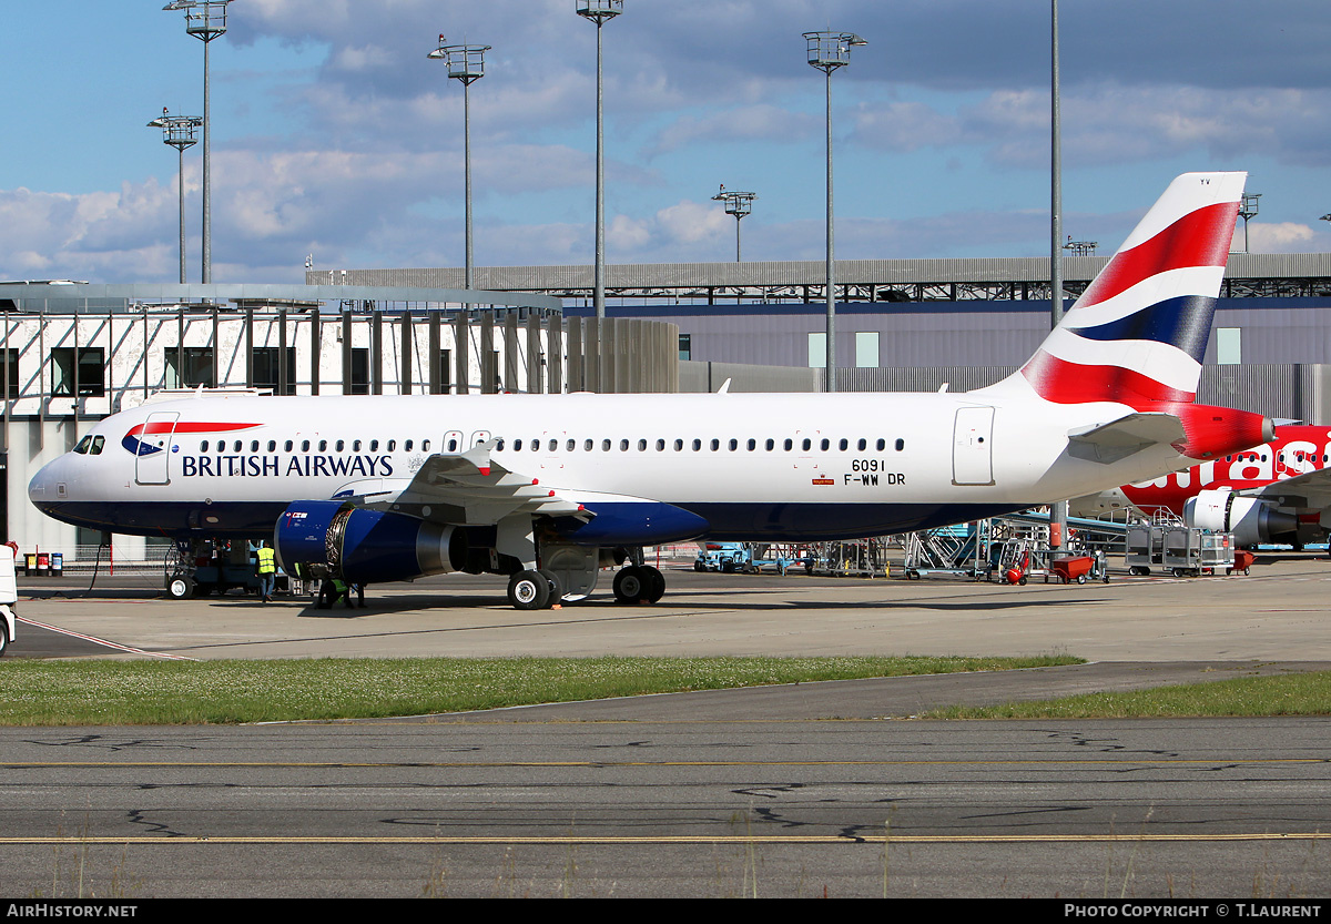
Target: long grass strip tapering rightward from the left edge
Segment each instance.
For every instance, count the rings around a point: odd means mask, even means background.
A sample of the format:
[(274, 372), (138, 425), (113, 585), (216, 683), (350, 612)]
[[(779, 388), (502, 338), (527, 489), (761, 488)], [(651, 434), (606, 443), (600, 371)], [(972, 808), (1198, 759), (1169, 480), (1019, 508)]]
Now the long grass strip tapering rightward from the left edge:
[(1078, 658), (5, 659), (0, 724), (373, 719), (689, 690), (1078, 664)]

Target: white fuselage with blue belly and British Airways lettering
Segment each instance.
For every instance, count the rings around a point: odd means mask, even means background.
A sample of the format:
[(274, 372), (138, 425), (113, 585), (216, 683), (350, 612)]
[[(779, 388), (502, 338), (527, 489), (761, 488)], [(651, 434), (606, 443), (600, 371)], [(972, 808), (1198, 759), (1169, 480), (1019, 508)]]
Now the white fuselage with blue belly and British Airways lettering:
[(430, 455), (498, 441), (496, 463), (594, 513), (648, 501), (697, 514), (708, 537), (847, 538), (1189, 463), (1169, 446), (1067, 455), (1070, 431), (1129, 411), (989, 393), (206, 397), (106, 418), (29, 494), (93, 529), (256, 537), (293, 501), (402, 489)]

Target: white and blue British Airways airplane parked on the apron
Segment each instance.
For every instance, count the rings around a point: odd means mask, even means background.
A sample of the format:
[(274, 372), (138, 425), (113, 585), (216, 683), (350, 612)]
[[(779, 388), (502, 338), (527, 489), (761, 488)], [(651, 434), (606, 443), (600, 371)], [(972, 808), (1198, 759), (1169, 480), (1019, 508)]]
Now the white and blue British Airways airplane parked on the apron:
[(272, 535), (301, 577), (506, 575), (540, 608), (626, 562), (615, 596), (660, 599), (643, 546), (904, 533), (1155, 478), (1270, 439), (1194, 403), (1244, 176), (1174, 180), (1036, 355), (976, 391), (172, 401), (98, 422), (29, 497), (97, 530)]

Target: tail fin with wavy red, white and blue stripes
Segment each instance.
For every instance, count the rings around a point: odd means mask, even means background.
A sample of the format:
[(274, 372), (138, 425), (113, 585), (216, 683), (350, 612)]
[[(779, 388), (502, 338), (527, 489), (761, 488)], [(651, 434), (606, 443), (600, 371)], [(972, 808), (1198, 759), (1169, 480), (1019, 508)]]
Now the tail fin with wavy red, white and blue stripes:
[(1063, 316), (994, 387), (1134, 409), (1197, 397), (1246, 173), (1185, 173)]

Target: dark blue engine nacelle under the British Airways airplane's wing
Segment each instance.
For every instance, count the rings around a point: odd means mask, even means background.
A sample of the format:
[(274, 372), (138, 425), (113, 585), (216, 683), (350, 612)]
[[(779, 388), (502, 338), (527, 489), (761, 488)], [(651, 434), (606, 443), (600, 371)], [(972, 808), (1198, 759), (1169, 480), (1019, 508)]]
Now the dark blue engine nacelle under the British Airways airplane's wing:
[(297, 501), (273, 527), (282, 567), (309, 578), (370, 584), (461, 571), (465, 530), (341, 501)]

